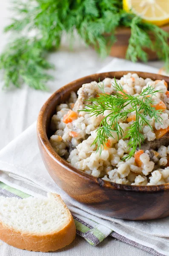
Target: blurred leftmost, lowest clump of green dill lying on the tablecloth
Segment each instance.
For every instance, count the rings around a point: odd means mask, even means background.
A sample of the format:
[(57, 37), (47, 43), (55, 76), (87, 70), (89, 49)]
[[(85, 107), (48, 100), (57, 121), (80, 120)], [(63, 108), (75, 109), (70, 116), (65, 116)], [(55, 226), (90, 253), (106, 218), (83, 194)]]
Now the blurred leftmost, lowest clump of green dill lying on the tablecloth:
[(0, 55), (0, 69), (4, 70), (4, 87), (21, 83), (37, 90), (47, 90), (46, 81), (52, 76), (45, 70), (53, 68), (46, 61), (41, 43), (35, 39), (18, 38), (9, 44), (8, 51)]

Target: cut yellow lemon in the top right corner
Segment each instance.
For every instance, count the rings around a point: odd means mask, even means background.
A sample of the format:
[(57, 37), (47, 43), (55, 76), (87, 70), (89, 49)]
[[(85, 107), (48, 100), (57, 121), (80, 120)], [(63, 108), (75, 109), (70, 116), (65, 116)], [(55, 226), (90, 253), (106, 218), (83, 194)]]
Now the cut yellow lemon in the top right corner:
[(169, 23), (169, 0), (123, 0), (123, 9), (158, 26)]

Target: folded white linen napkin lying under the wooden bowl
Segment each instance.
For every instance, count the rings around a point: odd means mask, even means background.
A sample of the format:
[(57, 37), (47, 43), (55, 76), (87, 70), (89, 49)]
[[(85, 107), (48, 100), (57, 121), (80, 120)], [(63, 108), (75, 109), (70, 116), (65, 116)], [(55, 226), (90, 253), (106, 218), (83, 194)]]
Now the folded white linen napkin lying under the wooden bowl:
[[(101, 72), (137, 70), (157, 73), (158, 70), (143, 64), (114, 59)], [(152, 221), (127, 221), (101, 215), (74, 201), (49, 176), (37, 146), (36, 123), (33, 123), (15, 140), (0, 151), (0, 181), (32, 196), (46, 196), (46, 192), (61, 195), (72, 213), (100, 224), (105, 230), (114, 230), (136, 243), (169, 255), (169, 218)]]

